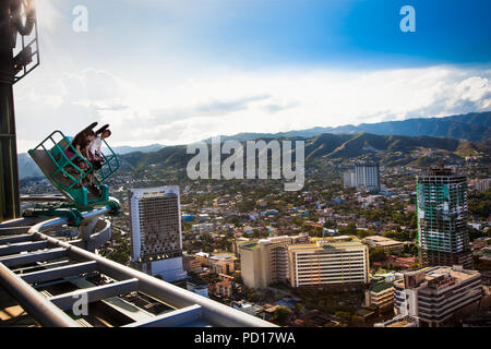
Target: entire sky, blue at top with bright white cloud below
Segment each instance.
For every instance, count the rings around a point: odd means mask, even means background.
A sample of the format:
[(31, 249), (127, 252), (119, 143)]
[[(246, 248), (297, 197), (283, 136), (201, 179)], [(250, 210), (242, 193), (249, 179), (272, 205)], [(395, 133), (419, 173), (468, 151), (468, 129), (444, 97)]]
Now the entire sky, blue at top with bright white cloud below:
[[(136, 145), (490, 109), (488, 0), (37, 2), (21, 149), (92, 119)], [(408, 4), (415, 33), (399, 29)], [(72, 29), (76, 5), (87, 33)], [(48, 122), (29, 124), (39, 113)]]

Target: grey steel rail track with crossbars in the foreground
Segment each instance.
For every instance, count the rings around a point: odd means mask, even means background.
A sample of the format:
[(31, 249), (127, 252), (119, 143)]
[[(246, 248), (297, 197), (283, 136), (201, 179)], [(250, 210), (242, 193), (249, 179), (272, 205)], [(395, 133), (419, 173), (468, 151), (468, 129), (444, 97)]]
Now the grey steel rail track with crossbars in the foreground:
[[(104, 215), (111, 209), (83, 213), (80, 238), (72, 241), (48, 234), (67, 217), (0, 224), (0, 288), (41, 326), (274, 326), (85, 250), (110, 238)], [(75, 315), (83, 298), (88, 312)], [(142, 299), (158, 311), (142, 306)]]

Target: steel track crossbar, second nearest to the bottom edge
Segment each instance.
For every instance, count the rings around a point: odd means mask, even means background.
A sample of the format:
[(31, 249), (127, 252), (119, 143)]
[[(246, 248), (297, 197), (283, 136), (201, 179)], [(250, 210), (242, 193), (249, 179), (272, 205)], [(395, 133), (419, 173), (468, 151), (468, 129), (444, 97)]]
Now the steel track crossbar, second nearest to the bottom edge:
[(93, 303), (107, 298), (116, 297), (118, 294), (133, 292), (137, 289), (139, 280), (133, 278), (104, 286), (83, 288), (73, 292), (51, 297), (49, 300), (58, 308), (62, 310), (69, 310), (72, 309), (73, 303), (80, 301), (81, 297), (83, 296), (87, 297), (87, 303)]

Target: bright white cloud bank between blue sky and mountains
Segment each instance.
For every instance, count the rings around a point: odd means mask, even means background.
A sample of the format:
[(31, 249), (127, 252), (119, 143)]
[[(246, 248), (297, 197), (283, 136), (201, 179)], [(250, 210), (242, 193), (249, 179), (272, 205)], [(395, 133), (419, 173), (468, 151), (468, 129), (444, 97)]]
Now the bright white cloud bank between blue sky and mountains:
[[(183, 76), (185, 76), (183, 74)], [(110, 123), (111, 142), (184, 144), (216, 134), (435, 117), (490, 108), (491, 71), (208, 71), (178, 83), (97, 70), (38, 76), (16, 91), (19, 148), (60, 129)]]

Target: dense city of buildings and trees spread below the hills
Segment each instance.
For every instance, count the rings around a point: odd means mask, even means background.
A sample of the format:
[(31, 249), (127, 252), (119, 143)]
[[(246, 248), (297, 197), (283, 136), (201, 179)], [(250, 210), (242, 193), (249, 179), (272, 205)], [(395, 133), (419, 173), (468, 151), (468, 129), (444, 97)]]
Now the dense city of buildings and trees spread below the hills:
[[(481, 154), (438, 169), (445, 159), (454, 161), (442, 157), (428, 168), (384, 167), (373, 157), (315, 163), (301, 192), (283, 191), (280, 181), (171, 182), (179, 178), (173, 171), (163, 180), (152, 169), (139, 177), (128, 171), (112, 180), (122, 215), (111, 218), (112, 238), (99, 253), (282, 326), (486, 325), (489, 160)], [(49, 184), (27, 180), (22, 191), (46, 192)], [(428, 192), (440, 195), (436, 203)], [(146, 195), (164, 202), (136, 209), (142, 204), (130, 198), (137, 194), (140, 202)], [(431, 209), (453, 214), (451, 226)], [(132, 219), (148, 227), (132, 230)], [(155, 239), (141, 231), (155, 231)], [(406, 287), (409, 279), (418, 282)], [(463, 286), (468, 280), (470, 289)], [(444, 313), (418, 311), (418, 296), (403, 311), (402, 292), (415, 289), (462, 294)]]

